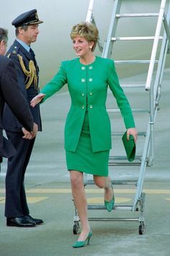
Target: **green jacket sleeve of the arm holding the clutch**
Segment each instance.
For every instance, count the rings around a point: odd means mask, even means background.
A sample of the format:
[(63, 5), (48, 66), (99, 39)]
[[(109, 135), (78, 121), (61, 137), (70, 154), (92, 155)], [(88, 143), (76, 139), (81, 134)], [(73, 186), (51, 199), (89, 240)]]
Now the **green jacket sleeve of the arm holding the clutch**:
[(135, 127), (130, 103), (128, 102), (128, 99), (120, 86), (120, 82), (115, 71), (115, 64), (113, 61), (110, 62), (109, 66), (108, 84), (110, 90), (112, 90), (112, 93), (116, 98), (117, 106), (120, 108), (120, 112), (124, 119), (125, 127), (127, 129)]

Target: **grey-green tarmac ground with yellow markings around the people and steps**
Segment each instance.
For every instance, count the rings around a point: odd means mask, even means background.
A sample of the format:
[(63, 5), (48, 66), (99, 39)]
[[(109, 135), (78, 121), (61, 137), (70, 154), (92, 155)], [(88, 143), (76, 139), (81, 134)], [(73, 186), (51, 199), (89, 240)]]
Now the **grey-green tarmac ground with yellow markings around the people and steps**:
[[(31, 216), (42, 218), (44, 224), (24, 229), (7, 227), (4, 217), (6, 160), (1, 165), (0, 180), (0, 255), (1, 256), (169, 256), (170, 255), (170, 69), (166, 69), (160, 107), (155, 124), (155, 158), (146, 168), (143, 192), (146, 193), (144, 218), (146, 230), (138, 234), (135, 221), (93, 221), (89, 246), (73, 249), (75, 208), (72, 202), (69, 174), (63, 148), (63, 129), (70, 99), (68, 93), (58, 93), (41, 106), (43, 132), (37, 135), (35, 148), (25, 176), (27, 201)], [(112, 95), (108, 95), (108, 106)], [(135, 103), (142, 102), (136, 92), (130, 95)], [(115, 120), (118, 118), (115, 117)], [(112, 120), (112, 117), (111, 117)], [(138, 130), (143, 121), (136, 116)], [(122, 150), (117, 147), (118, 152)], [(140, 150), (140, 146), (138, 147)], [(115, 150), (115, 148), (114, 148)], [(109, 167), (112, 179), (120, 176), (138, 177), (138, 168)], [(115, 204), (133, 203), (134, 187), (115, 186)], [(103, 190), (86, 186), (88, 202), (103, 204)], [(126, 210), (89, 210), (89, 217), (135, 217), (138, 212)]]

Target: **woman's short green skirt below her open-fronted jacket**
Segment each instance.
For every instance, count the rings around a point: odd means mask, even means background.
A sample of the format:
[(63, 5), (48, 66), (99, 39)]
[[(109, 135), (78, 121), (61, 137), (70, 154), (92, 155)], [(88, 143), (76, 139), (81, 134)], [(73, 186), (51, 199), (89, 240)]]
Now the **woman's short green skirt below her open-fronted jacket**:
[(76, 170), (97, 176), (108, 176), (109, 150), (92, 152), (89, 116), (86, 111), (76, 152), (66, 150), (68, 171)]

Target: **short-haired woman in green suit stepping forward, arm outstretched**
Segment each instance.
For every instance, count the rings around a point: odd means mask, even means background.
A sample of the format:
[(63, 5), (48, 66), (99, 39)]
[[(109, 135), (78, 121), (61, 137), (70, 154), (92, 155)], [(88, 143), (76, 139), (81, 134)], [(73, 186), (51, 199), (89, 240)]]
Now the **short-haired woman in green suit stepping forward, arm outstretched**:
[(106, 109), (107, 88), (112, 90), (123, 116), (127, 135), (137, 140), (137, 131), (130, 104), (120, 87), (114, 62), (94, 56), (98, 30), (91, 23), (81, 22), (71, 30), (71, 39), (79, 58), (63, 61), (58, 73), (32, 99), (34, 107), (44, 102), (63, 85), (68, 84), (71, 108), (65, 126), (66, 162), (71, 177), (73, 199), (81, 220), (81, 234), (73, 247), (89, 244), (92, 235), (87, 218), (83, 174), (93, 174), (94, 183), (104, 188), (104, 205), (111, 211), (115, 202), (108, 176), (111, 128)]

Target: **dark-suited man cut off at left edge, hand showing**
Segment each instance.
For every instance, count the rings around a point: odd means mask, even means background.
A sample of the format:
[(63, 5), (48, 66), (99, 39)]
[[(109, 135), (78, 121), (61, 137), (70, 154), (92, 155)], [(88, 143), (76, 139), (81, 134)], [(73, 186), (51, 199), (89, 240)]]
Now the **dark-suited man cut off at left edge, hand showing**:
[(0, 27), (0, 168), (2, 157), (9, 158), (16, 153), (10, 142), (3, 137), (1, 114), (5, 102), (23, 126), (22, 137), (31, 140), (37, 134), (37, 124), (33, 123), (29, 105), (17, 84), (14, 63), (3, 56), (6, 52), (7, 40), (7, 30)]

